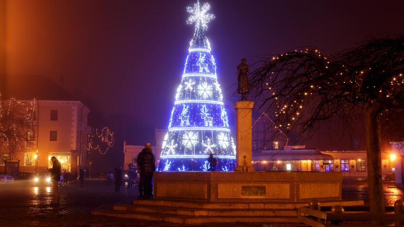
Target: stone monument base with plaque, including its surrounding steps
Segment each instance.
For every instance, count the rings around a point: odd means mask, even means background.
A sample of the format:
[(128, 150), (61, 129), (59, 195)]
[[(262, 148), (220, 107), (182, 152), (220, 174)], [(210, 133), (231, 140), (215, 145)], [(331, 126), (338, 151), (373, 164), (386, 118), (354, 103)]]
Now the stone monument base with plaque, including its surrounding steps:
[(156, 172), (154, 199), (104, 205), (93, 215), (178, 224), (297, 222), (297, 209), (318, 199), (321, 206), (358, 206), (341, 199), (341, 173)]

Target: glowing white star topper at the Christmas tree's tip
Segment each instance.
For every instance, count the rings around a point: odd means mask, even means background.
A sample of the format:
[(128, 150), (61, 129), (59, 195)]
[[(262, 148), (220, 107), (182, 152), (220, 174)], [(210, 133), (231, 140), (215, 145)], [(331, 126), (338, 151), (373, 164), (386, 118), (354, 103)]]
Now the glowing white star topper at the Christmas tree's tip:
[(203, 31), (206, 31), (208, 29), (208, 23), (215, 19), (215, 15), (207, 14), (209, 9), (210, 4), (207, 2), (203, 3), (201, 8), (199, 0), (194, 4), (194, 7), (186, 7), (186, 11), (191, 14), (186, 20), (186, 24), (195, 23), (195, 30), (202, 28)]

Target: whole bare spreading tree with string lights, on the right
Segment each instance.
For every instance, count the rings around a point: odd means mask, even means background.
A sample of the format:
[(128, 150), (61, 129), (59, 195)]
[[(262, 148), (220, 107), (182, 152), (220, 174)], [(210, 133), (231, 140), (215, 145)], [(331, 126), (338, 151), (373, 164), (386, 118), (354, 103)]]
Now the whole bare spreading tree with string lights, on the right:
[(252, 96), (285, 132), (305, 132), (336, 116), (347, 124), (364, 117), (370, 211), (384, 212), (381, 121), (402, 122), (394, 113), (404, 108), (404, 36), (373, 37), (328, 57), (315, 48), (295, 50), (258, 64)]

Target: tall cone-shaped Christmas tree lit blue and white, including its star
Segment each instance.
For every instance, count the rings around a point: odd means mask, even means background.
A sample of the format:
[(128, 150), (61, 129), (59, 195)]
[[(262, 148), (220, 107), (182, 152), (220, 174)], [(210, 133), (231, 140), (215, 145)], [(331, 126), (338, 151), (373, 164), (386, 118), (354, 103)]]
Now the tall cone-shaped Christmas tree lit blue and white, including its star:
[(207, 13), (209, 8), (208, 3), (201, 7), (199, 0), (194, 7), (186, 8), (191, 14), (186, 23), (195, 24), (195, 33), (175, 95), (158, 171), (208, 171), (211, 153), (217, 160), (217, 171), (233, 171), (236, 165), (236, 146), (205, 35), (208, 22), (215, 18)]

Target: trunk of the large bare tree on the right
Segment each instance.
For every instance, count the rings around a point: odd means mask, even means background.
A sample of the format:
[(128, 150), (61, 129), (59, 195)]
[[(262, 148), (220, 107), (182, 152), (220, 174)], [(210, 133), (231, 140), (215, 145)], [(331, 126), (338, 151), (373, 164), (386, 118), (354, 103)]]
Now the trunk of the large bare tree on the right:
[(383, 197), (382, 181), (382, 155), (380, 118), (382, 108), (379, 105), (365, 107), (366, 151), (368, 159), (368, 186), (370, 212), (384, 213), (385, 203)]

